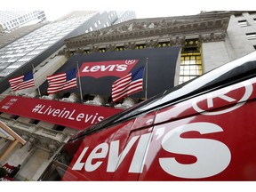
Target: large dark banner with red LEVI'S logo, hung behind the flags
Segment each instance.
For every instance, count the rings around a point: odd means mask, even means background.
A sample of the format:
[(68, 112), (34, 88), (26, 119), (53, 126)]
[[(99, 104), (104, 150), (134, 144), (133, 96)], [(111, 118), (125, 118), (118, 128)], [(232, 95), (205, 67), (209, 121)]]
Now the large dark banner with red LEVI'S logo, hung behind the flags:
[[(68, 58), (55, 74), (79, 68), (79, 86), (84, 94), (104, 95), (110, 97), (112, 84), (119, 78), (126, 76), (147, 64), (147, 78), (143, 78), (143, 87), (147, 83), (147, 97), (164, 92), (174, 87), (180, 66), (180, 46), (150, 48), (141, 50), (125, 50), (122, 52), (95, 52), (77, 54)], [(48, 84), (40, 85), (42, 94), (46, 94)], [(68, 92), (80, 94), (79, 89), (72, 88)], [(146, 89), (136, 92), (129, 97), (142, 98)]]

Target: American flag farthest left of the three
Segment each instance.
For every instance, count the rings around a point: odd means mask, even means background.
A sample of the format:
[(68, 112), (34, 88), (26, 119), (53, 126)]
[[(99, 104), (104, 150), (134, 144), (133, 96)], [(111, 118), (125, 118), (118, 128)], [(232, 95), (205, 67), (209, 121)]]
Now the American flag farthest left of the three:
[(32, 71), (29, 71), (23, 76), (18, 76), (18, 77), (9, 79), (9, 83), (11, 84), (12, 92), (16, 92), (18, 90), (35, 86), (35, 81), (34, 81)]

